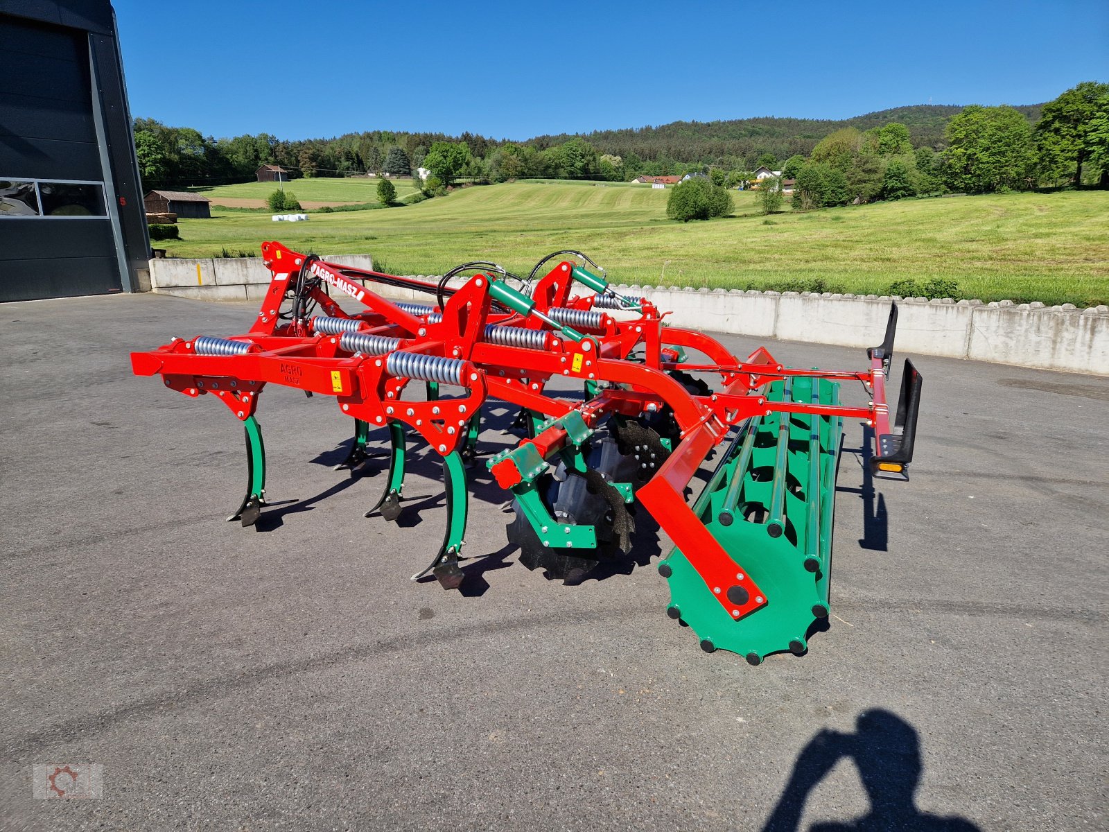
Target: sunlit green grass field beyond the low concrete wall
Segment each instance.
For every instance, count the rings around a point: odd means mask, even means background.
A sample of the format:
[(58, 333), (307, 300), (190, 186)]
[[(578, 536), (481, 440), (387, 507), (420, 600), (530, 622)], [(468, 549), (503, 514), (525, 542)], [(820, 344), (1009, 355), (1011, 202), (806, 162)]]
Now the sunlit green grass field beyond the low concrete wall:
[[(343, 189), (355, 181), (299, 180), (293, 190), (301, 199), (308, 199), (304, 182)], [(526, 274), (548, 252), (579, 248), (623, 283), (774, 288), (822, 278), (830, 291), (882, 294), (897, 280), (942, 277), (983, 301), (1109, 302), (1105, 192), (907, 200), (769, 220), (755, 214), (753, 194), (735, 193), (734, 216), (688, 224), (665, 219), (668, 194), (644, 185), (516, 182), (282, 225), (265, 214), (216, 210), (211, 220), (182, 220), (184, 239), (160, 246), (212, 256), (277, 239), (321, 254), (369, 253), (396, 274), (440, 274), (468, 260)]]

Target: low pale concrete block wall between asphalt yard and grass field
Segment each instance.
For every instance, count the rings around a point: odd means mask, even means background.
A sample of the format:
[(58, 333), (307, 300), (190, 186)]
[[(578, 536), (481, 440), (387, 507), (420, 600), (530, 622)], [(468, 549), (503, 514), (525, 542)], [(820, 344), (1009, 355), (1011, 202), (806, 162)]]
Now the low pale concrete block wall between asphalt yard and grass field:
[[(324, 256), (356, 268), (373, 268), (368, 254)], [(212, 301), (261, 301), (269, 270), (257, 258), (152, 260), (153, 291)], [(416, 275), (425, 281), (433, 275)], [(458, 286), (462, 280), (451, 281)], [(620, 286), (628, 295), (648, 297), (672, 312), (672, 326), (709, 332), (781, 338), (816, 344), (867, 347), (882, 341), (889, 304), (898, 306), (897, 352), (1015, 364), (1041, 369), (1109, 375), (1109, 306), (1078, 310), (1072, 304), (1045, 306), (1000, 301), (892, 298), (808, 292), (741, 292), (678, 286)], [(375, 285), (400, 301), (428, 303), (411, 290)]]

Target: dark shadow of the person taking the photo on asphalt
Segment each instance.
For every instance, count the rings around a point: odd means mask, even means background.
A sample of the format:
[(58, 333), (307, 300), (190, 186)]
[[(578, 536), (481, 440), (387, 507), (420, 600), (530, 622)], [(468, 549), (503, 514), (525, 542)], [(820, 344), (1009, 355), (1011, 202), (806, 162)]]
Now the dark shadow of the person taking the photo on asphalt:
[(908, 722), (881, 709), (861, 713), (854, 733), (825, 729), (810, 740), (797, 754), (790, 781), (763, 832), (800, 830), (810, 793), (844, 758), (858, 769), (871, 811), (847, 823), (814, 823), (810, 832), (978, 832), (978, 826), (965, 818), (917, 809), (915, 794), (924, 770), (920, 738)]

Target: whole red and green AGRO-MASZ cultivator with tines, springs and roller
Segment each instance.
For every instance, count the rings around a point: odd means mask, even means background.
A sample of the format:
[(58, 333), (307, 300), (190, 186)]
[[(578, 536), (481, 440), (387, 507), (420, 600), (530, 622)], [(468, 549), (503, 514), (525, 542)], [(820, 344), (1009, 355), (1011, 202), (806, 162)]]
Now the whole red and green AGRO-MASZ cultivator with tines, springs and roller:
[[(630, 549), (631, 506), (642, 504), (675, 542), (659, 565), (670, 582), (670, 616), (689, 623), (705, 650), (724, 648), (757, 663), (777, 650), (803, 652), (815, 619), (828, 615), (842, 420), (874, 427), (876, 476), (907, 479), (922, 382), (906, 361), (897, 412), (904, 429), (895, 434), (885, 383), (896, 307), (885, 341), (868, 351), (869, 368), (792, 369), (764, 348), (740, 359), (702, 333), (664, 326), (651, 303), (617, 294), (577, 252), (540, 261), (532, 277), (556, 262), (530, 293), (491, 263), (465, 264), (433, 284), (324, 262), (274, 242), (262, 252), (273, 282), (248, 333), (175, 338), (132, 354), (136, 374), (161, 375), (189, 396), (214, 396), (245, 423), (250, 481), (231, 518), (244, 526), (265, 504), (254, 419), (265, 385), (335, 396), (356, 420), (347, 466), (365, 458), (369, 429), (388, 428), (389, 473), (370, 513), (395, 519), (403, 510), (407, 435), (444, 458), (447, 534), (414, 578), (433, 574), (457, 587), (465, 559), (464, 463), (477, 454), (482, 405), (510, 403), (520, 408), (527, 438), (488, 465), (513, 494), (508, 534), (521, 562), (580, 580)], [(464, 272), (469, 280), (450, 288), (447, 278)], [(574, 295), (576, 284), (589, 292)], [(423, 292), (430, 303), (389, 301), (374, 285)], [(328, 290), (365, 311), (344, 312)], [(719, 386), (710, 389), (692, 373)], [(550, 393), (559, 376), (577, 379), (584, 397)], [(842, 381), (861, 382), (872, 400), (841, 405)], [(414, 395), (411, 382), (426, 387)], [(694, 474), (725, 439), (715, 473), (688, 505)]]

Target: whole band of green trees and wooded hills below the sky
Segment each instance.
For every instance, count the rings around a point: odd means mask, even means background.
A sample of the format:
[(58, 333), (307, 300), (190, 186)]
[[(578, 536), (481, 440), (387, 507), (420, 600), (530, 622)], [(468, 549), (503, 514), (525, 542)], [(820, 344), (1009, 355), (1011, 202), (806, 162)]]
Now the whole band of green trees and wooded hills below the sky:
[(525, 142), (472, 133), (367, 131), (335, 139), (278, 140), (268, 133), (204, 136), (152, 119), (134, 122), (146, 187), (254, 179), (262, 164), (293, 177), (433, 172), (434, 193), (459, 180), (630, 181), (700, 172), (742, 186), (760, 165), (796, 179), (810, 206), (943, 191), (1039, 185), (1109, 185), (1109, 84), (1085, 82), (1041, 105), (913, 106), (845, 121), (744, 119), (673, 122), (640, 130), (538, 136)]

